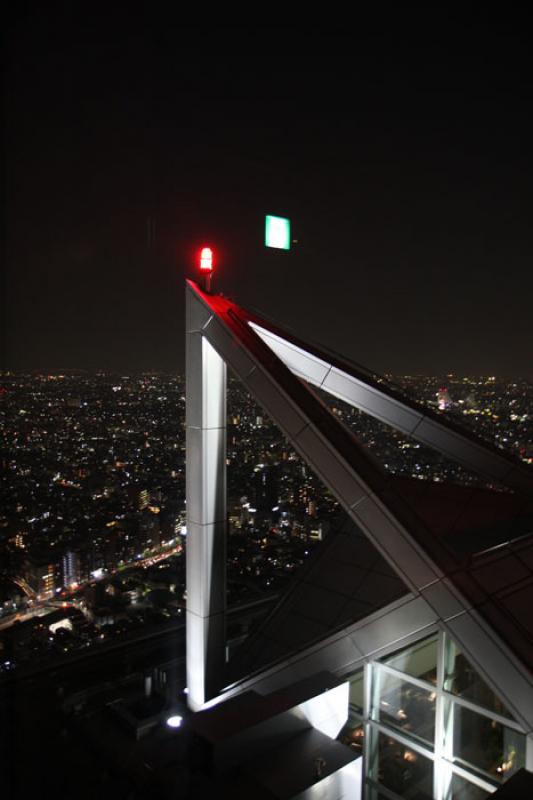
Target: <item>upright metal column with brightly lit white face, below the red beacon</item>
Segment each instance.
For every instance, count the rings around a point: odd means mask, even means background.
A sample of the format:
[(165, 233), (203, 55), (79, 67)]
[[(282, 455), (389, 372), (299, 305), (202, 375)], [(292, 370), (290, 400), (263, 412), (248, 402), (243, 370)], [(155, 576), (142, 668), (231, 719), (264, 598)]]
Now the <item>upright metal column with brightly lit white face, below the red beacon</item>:
[(192, 708), (220, 688), (225, 663), (226, 365), (200, 332), (212, 319), (187, 292), (187, 684)]

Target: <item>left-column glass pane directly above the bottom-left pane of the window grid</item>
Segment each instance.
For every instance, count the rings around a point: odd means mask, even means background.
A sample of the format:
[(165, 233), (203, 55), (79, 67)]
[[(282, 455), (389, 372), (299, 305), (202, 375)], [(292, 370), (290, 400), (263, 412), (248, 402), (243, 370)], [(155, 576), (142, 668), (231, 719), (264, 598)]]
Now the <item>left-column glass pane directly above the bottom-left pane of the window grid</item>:
[(435, 692), (385, 670), (375, 670), (372, 718), (421, 739), (431, 748), (435, 738), (435, 700)]

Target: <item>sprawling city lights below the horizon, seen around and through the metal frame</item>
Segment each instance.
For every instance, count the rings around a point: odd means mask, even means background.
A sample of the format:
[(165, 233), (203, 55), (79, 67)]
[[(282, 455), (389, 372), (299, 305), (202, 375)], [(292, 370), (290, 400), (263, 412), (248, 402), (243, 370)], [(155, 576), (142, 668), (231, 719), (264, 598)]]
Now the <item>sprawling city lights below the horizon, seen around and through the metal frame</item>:
[[(436, 409), (437, 393), (445, 385), (442, 376), (397, 380), (406, 392)], [(100, 583), (103, 590), (115, 583), (113, 597), (122, 599), (122, 608), (133, 621), (144, 615), (142, 601), (150, 591), (149, 584), (152, 580), (160, 583), (163, 575), (170, 605), (158, 613), (179, 617), (185, 606), (184, 576), (173, 572), (167, 579), (163, 568), (182, 563), (187, 538), (184, 441), (180, 438), (185, 410), (183, 378), (68, 375), (58, 382), (13, 375), (5, 383), (9, 388), (3, 398), (6, 441), (11, 444), (6, 456), (9, 491), (3, 514), (12, 532), (1, 555), (6, 560), (11, 552), (22, 557), (23, 574), (14, 576), (2, 625), (31, 620), (37, 611), (49, 613), (51, 598), (77, 603), (82, 593), (87, 589), (96, 592)], [(447, 415), (460, 415), (498, 445), (514, 450), (524, 461), (531, 459), (533, 397), (527, 384), (495, 384), (492, 376), (491, 380), (447, 376), (446, 386)], [(119, 391), (115, 391), (117, 387)], [(91, 398), (98, 418), (83, 411), (79, 401), (83, 403), (84, 397)], [(390, 473), (416, 478), (417, 483), (471, 485), (472, 477), (459, 465), (428, 459), (419, 443), (388, 432), (340, 401), (333, 399), (331, 404), (339, 419), (388, 465)], [(503, 413), (505, 407), (510, 411)], [(28, 412), (24, 422), (20, 408)], [(244, 581), (262, 592), (276, 593), (327, 535), (328, 518), (337, 506), (320, 481), (302, 470), (302, 462), (272, 421), (234, 380), (228, 385), (228, 408), (228, 475), (236, 487), (247, 487), (246, 495), (237, 489), (228, 498), (232, 586), (239, 587)], [(472, 415), (464, 417), (466, 409), (472, 410)], [(50, 420), (55, 421), (53, 426)], [(109, 431), (107, 439), (98, 430), (98, 420), (104, 421)], [(176, 435), (166, 438), (168, 429)], [(147, 437), (153, 442), (150, 450), (143, 446)], [(29, 454), (33, 454), (31, 470)], [(102, 462), (106, 462), (104, 472)], [(90, 547), (78, 529), (88, 531)], [(140, 577), (133, 582), (132, 568), (140, 570)], [(157, 579), (151, 575), (155, 569)], [(230, 597), (230, 603), (233, 601)], [(72, 649), (95, 642), (99, 625), (105, 626), (106, 638), (120, 635), (131, 625), (113, 614), (93, 616), (96, 594), (89, 593), (83, 603), (87, 622), (94, 620), (95, 629), (83, 639), (74, 617)], [(49, 643), (50, 648), (53, 644)], [(40, 658), (46, 656), (47, 647), (43, 644), (39, 650)], [(17, 663), (24, 657), (31, 657), (29, 649), (18, 654)]]

